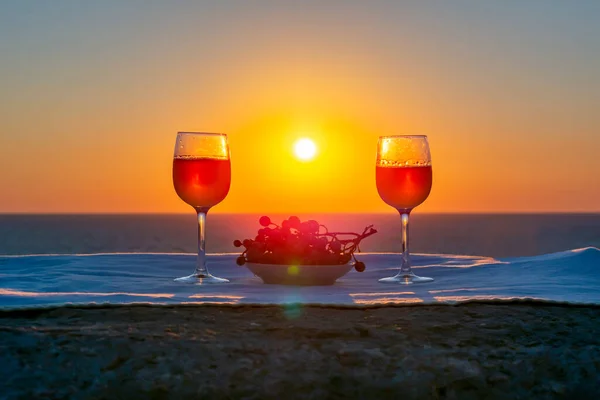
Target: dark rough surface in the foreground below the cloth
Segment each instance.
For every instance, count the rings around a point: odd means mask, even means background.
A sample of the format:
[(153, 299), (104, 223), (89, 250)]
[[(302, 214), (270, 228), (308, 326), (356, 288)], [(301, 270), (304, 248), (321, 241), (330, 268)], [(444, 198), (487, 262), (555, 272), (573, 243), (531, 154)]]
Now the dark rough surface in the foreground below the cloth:
[(600, 398), (600, 308), (0, 312), (0, 398)]

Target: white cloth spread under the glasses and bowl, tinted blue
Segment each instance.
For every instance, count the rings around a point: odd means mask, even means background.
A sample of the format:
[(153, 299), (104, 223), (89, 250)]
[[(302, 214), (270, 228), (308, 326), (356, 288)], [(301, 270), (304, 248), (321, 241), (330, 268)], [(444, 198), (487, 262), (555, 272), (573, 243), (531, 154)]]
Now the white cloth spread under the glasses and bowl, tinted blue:
[(455, 304), (476, 300), (534, 299), (600, 304), (600, 250), (585, 248), (537, 257), (493, 259), (413, 255), (415, 273), (434, 282), (410, 286), (377, 282), (395, 273), (398, 254), (362, 254), (333, 286), (265, 285), (235, 255), (209, 256), (224, 285), (173, 281), (194, 269), (189, 254), (0, 256), (0, 308), (64, 304)]

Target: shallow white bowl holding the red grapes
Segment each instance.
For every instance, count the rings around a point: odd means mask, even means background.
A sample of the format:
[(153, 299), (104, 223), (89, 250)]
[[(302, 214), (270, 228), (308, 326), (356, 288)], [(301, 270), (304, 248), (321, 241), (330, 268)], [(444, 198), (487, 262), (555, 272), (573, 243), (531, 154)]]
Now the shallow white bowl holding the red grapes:
[(354, 262), (341, 265), (282, 265), (246, 263), (246, 267), (264, 283), (277, 285), (333, 285), (346, 275)]

